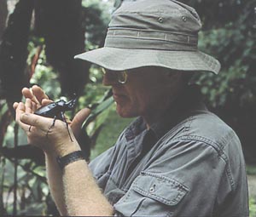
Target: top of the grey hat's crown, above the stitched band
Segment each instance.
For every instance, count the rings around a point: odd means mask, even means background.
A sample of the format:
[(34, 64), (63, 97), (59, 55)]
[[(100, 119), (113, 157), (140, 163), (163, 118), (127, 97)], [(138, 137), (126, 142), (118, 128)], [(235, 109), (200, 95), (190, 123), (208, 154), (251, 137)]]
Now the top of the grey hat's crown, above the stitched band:
[(201, 20), (195, 9), (172, 0), (124, 2), (113, 13), (109, 28), (171, 31), (197, 35)]

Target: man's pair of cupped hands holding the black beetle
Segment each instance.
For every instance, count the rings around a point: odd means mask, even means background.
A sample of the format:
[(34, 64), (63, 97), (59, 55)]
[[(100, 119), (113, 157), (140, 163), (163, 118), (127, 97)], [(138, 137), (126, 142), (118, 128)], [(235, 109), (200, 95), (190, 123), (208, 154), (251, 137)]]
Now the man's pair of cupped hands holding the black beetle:
[[(22, 89), (22, 94), (26, 98), (25, 104), (22, 102), (15, 103), (14, 108), (16, 111), (16, 122), (26, 132), (28, 142), (34, 146), (38, 146), (45, 152), (56, 152), (56, 154), (62, 155), (63, 150), (65, 150), (67, 153), (69, 149), (67, 141), (70, 138), (66, 124), (60, 120), (56, 120), (53, 126), (52, 118), (33, 114), (39, 107), (48, 105), (52, 100), (49, 100), (49, 97), (44, 94), (43, 89), (38, 86), (33, 86), (32, 90), (24, 88)], [(79, 136), (82, 123), (84, 123), (84, 120), (89, 115), (90, 110), (84, 108), (73, 118), (73, 122), (67, 121), (69, 127), (72, 128), (72, 130), (70, 128), (68, 129), (72, 137)]]

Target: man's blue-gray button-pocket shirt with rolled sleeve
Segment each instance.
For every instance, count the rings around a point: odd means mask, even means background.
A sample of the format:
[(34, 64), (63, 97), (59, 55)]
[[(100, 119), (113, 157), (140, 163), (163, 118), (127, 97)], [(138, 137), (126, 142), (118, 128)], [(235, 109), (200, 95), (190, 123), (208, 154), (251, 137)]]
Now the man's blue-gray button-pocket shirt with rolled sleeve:
[(90, 163), (115, 215), (249, 215), (240, 140), (195, 95), (184, 94), (149, 130), (137, 118)]

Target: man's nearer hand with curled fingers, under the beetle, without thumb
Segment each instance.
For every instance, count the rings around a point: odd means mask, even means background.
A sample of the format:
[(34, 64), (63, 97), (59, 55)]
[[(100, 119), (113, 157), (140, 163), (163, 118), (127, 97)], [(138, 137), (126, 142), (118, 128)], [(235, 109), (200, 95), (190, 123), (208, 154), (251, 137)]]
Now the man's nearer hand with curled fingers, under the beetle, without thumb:
[[(56, 120), (53, 126), (52, 118), (33, 114), (35, 107), (35, 103), (30, 99), (26, 99), (25, 104), (20, 102), (16, 107), (16, 122), (26, 132), (28, 142), (46, 153), (55, 153), (57, 156), (77, 149), (76, 140), (70, 141), (66, 123)], [(69, 130), (74, 137), (72, 130)]]

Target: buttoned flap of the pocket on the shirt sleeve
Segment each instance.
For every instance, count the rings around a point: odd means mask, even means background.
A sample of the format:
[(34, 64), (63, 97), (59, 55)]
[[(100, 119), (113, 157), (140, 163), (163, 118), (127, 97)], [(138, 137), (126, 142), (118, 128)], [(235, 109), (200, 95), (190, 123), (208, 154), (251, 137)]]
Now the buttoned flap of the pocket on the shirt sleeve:
[(135, 180), (133, 190), (150, 197), (166, 205), (176, 205), (189, 191), (176, 180), (172, 180), (160, 174), (142, 172)]

